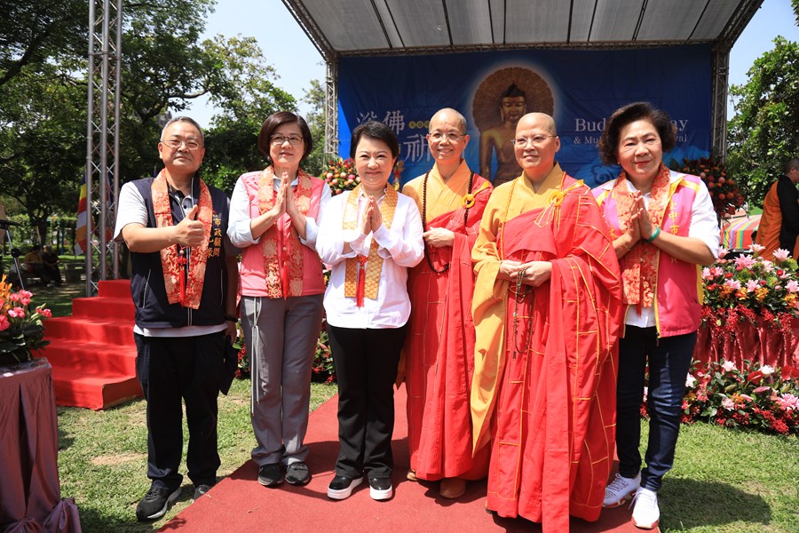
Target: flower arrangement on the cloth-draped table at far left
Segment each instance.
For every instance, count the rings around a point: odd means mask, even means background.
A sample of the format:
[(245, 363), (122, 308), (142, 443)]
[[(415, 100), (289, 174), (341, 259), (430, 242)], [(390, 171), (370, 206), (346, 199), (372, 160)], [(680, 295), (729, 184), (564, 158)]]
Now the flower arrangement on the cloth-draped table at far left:
[(50, 344), (44, 340), (44, 319), (50, 309), (38, 306), (31, 310), (33, 294), (28, 290), (12, 291), (12, 285), (0, 279), (0, 364), (25, 362), (31, 352), (39, 354)]

